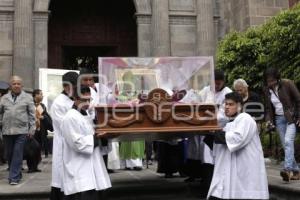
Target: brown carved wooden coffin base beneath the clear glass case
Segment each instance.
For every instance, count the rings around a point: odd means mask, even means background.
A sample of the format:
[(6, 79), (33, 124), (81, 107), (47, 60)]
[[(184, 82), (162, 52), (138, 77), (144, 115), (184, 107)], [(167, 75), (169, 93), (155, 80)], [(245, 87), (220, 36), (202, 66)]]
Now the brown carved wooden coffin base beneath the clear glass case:
[(96, 134), (116, 140), (159, 140), (206, 134), (220, 128), (216, 106), (172, 101), (162, 89), (152, 90), (140, 104), (96, 107)]

